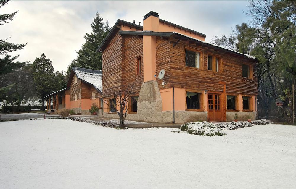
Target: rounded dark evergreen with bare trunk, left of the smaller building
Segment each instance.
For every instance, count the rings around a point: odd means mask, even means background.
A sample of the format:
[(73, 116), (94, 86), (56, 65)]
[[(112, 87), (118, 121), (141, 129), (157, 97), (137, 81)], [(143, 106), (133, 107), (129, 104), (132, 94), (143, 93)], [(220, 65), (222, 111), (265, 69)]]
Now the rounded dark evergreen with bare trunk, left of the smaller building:
[(44, 54), (36, 58), (33, 62), (33, 80), (36, 85), (36, 90), (42, 98), (42, 110), (44, 110), (44, 97), (56, 91), (56, 78), (52, 61), (46, 59)]

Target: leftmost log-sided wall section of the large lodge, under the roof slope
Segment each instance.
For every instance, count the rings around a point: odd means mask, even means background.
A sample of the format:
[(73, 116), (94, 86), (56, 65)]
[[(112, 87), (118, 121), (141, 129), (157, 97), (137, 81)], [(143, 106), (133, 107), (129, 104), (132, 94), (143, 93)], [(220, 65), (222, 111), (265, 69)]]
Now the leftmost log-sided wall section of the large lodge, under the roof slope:
[(123, 79), (122, 61), (122, 37), (118, 34), (112, 38), (102, 53), (103, 59), (103, 94), (112, 94), (112, 88), (121, 87)]

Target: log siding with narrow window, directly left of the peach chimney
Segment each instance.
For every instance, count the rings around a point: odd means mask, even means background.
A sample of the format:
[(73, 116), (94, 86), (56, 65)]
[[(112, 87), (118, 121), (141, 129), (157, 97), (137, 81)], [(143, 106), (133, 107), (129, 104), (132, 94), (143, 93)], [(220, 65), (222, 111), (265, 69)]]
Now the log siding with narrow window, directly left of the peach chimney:
[[(124, 80), (123, 85), (133, 86), (133, 91), (139, 93), (143, 83), (143, 38), (134, 35), (124, 36)], [(141, 75), (136, 76), (136, 58), (141, 56)]]

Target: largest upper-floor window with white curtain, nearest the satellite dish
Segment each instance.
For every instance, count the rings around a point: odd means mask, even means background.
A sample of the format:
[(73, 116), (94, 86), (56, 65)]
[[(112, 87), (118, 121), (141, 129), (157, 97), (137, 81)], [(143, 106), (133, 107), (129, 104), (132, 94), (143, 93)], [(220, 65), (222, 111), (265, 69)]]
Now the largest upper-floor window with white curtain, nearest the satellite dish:
[(202, 69), (202, 52), (185, 50), (185, 66)]

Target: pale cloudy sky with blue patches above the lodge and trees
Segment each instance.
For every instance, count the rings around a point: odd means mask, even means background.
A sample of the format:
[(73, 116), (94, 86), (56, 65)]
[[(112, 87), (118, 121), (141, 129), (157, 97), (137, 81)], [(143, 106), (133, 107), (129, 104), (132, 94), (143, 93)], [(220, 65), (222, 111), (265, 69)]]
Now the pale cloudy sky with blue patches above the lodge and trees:
[(117, 19), (142, 25), (143, 16), (152, 10), (163, 20), (206, 34), (210, 42), (248, 22), (243, 13), (247, 5), (247, 1), (9, 1), (0, 14), (19, 12), (12, 22), (0, 25), (0, 38), (28, 43), (12, 54), (20, 54), (19, 61), (33, 62), (44, 53), (55, 70), (65, 71), (76, 59), (84, 34), (91, 32), (96, 12), (111, 26)]

